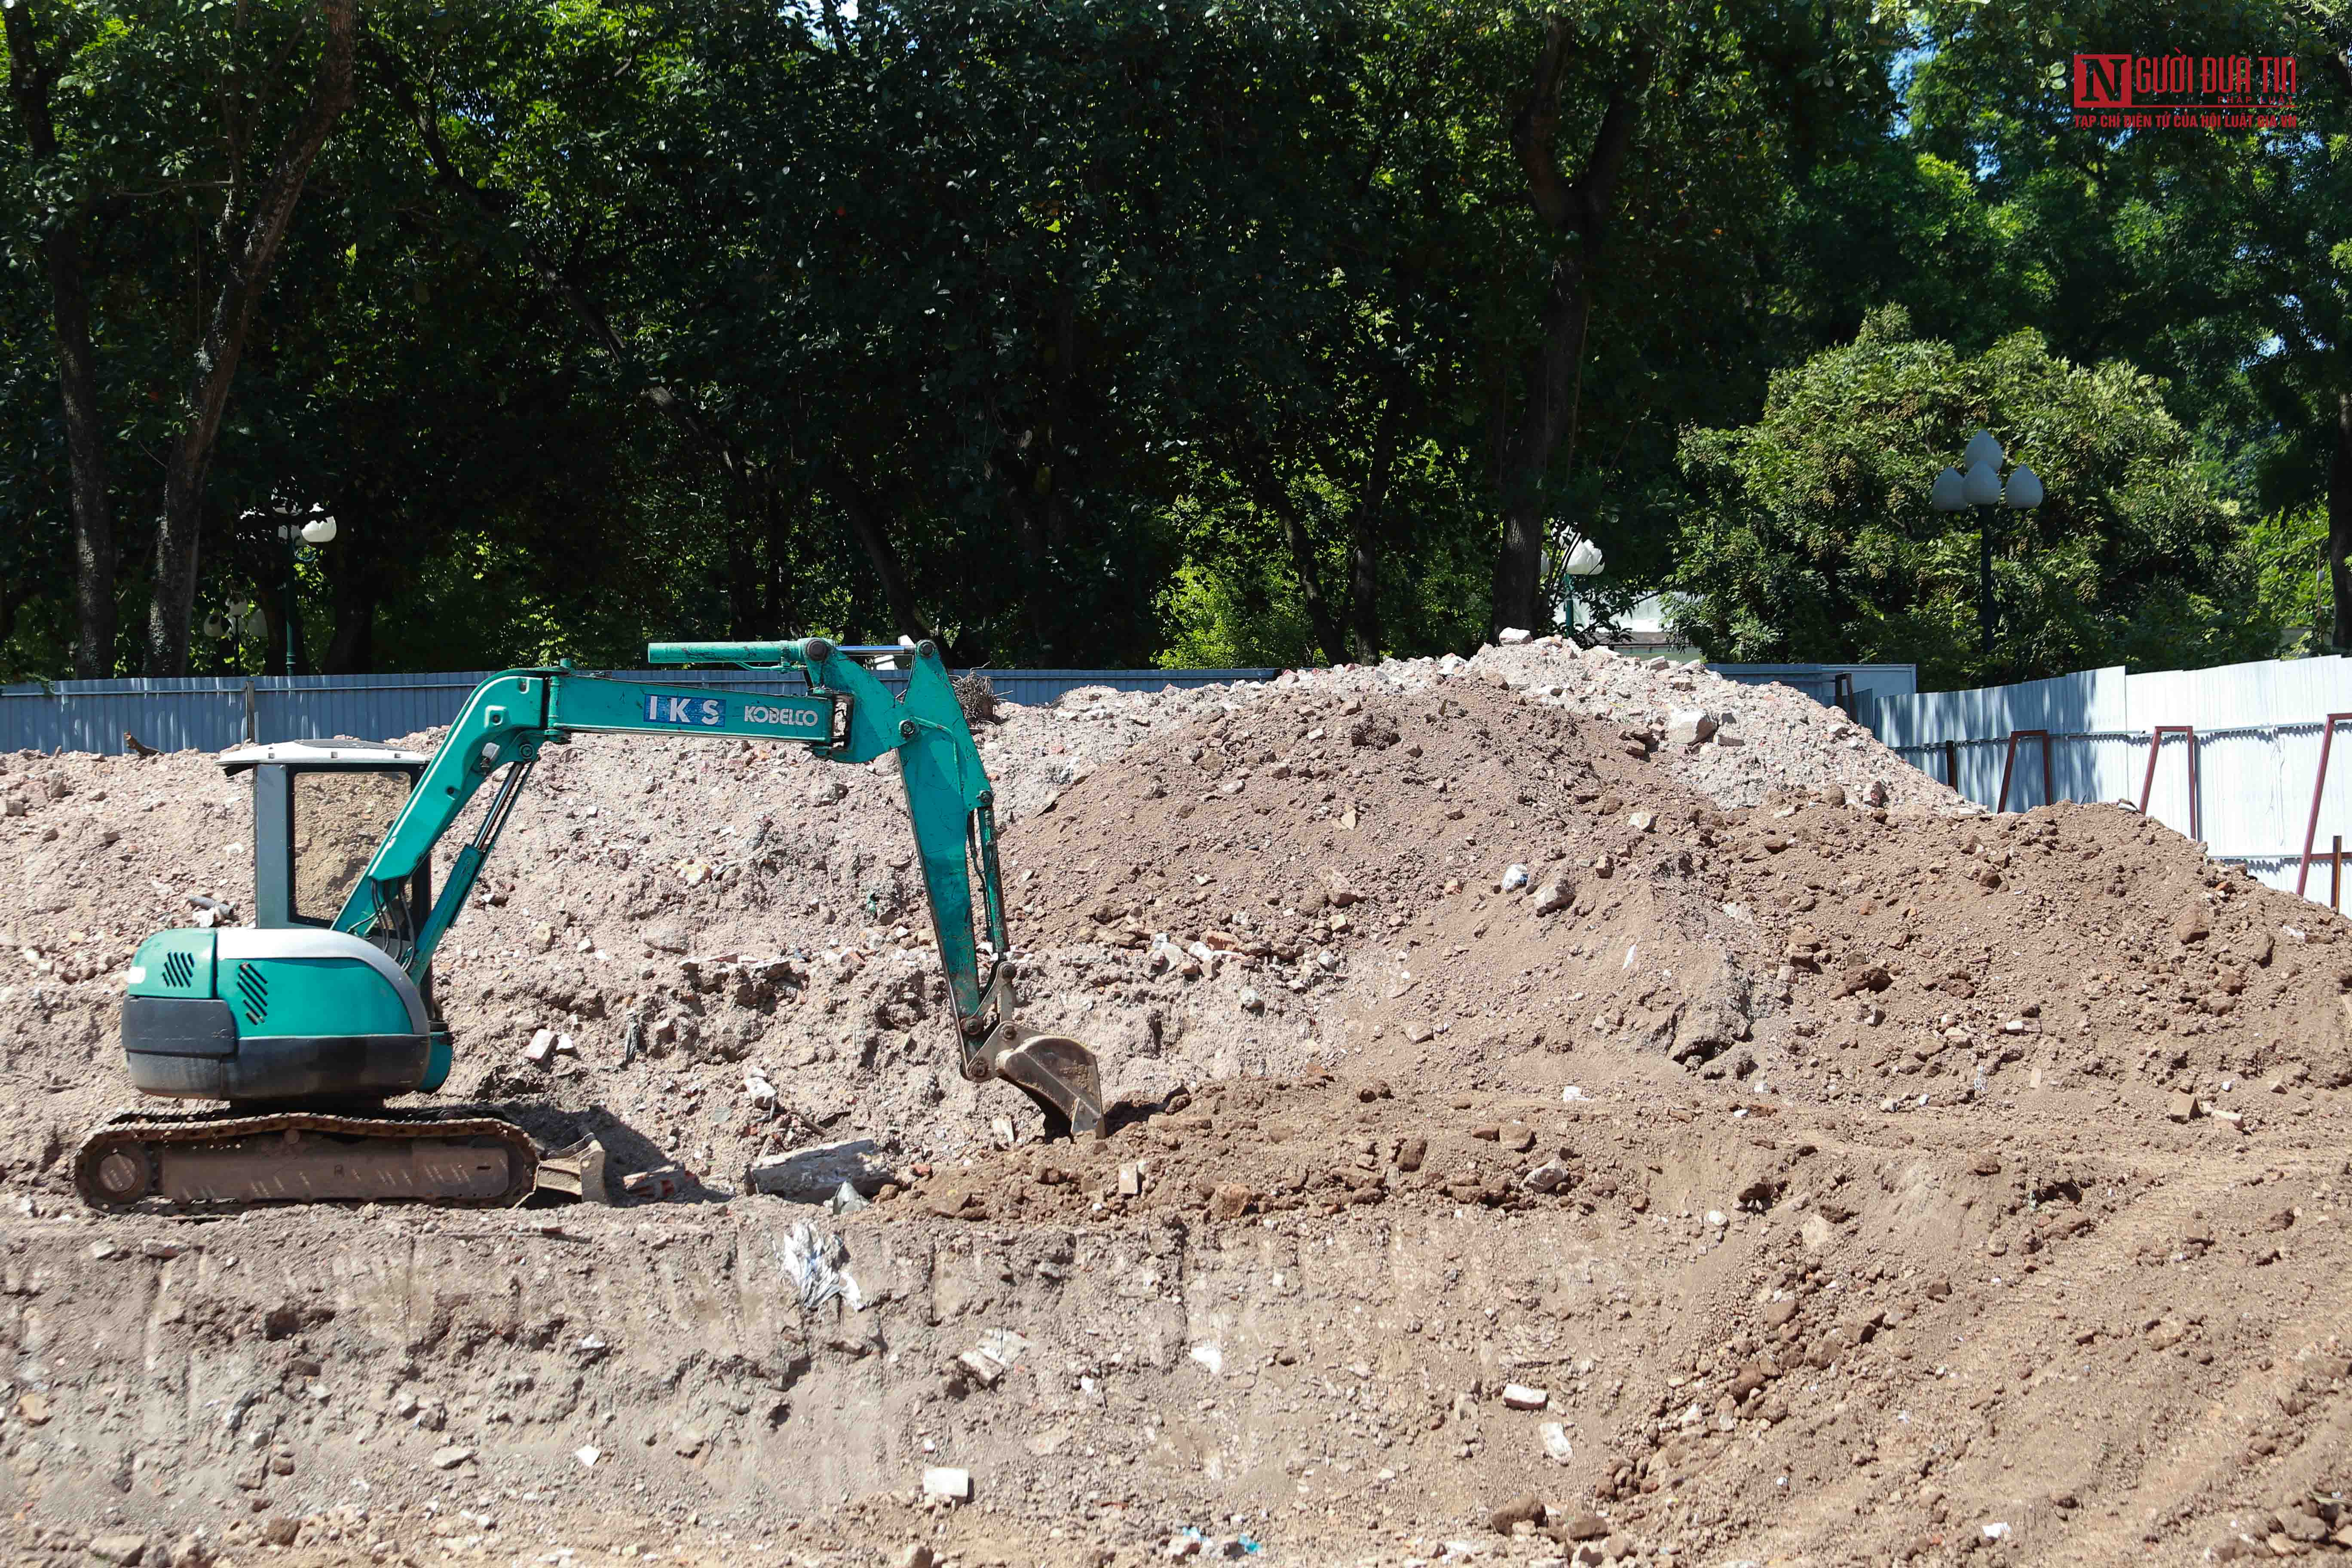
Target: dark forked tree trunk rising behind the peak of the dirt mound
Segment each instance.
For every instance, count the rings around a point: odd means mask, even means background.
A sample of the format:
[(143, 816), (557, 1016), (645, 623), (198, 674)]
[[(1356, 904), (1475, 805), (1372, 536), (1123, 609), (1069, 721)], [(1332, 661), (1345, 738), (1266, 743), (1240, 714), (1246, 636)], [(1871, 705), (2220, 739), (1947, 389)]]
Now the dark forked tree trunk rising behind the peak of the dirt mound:
[[(1623, 87), (1609, 89), (1592, 153), (1583, 174), (1569, 181), (1559, 169), (1559, 73), (1566, 63), (1569, 21), (1552, 16), (1536, 59), (1536, 82), (1510, 125), (1510, 143), (1526, 174), (1526, 195), (1545, 228), (1569, 240), (1552, 261), (1543, 299), (1543, 336), (1526, 362), (1526, 390), (1519, 418), (1503, 437), (1496, 461), (1496, 491), (1503, 505), (1503, 541), (1494, 559), (1494, 628), (1543, 625), (1543, 480), (1562, 442), (1573, 449), (1576, 397), (1585, 355), (1585, 327), (1592, 320), (1592, 277), (1602, 237), (1609, 228), (1609, 205), (1632, 146), (1635, 106)], [(1642, 80), (1642, 71), (1621, 80)]]

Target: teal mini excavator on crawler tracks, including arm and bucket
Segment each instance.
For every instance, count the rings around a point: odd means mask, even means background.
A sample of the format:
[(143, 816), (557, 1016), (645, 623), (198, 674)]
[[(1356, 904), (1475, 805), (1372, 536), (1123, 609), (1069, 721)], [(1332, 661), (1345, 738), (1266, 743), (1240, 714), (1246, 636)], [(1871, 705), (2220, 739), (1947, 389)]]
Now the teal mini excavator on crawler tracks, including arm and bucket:
[[(797, 670), (807, 691), (743, 693), (597, 679), (569, 665), (475, 686), (430, 757), (315, 741), (245, 745), (254, 776), (254, 926), (158, 931), (122, 999), (122, 1053), (148, 1095), (226, 1112), (120, 1112), (75, 1154), (99, 1208), (172, 1204), (513, 1204), (539, 1150), (499, 1117), (386, 1110), (447, 1081), (452, 1039), (433, 1006), (433, 952), (473, 896), (546, 745), (574, 733), (790, 741), (833, 762), (898, 755), (931, 929), (955, 999), (967, 1079), (1004, 1079), (1049, 1131), (1098, 1138), (1094, 1053), (1014, 1020), (995, 795), (938, 649), (915, 644), (906, 696), (863, 663), (901, 646), (656, 642), (656, 665)], [(433, 891), (433, 851), (506, 769)], [(978, 870), (978, 929), (971, 877)], [(985, 947), (981, 940), (985, 938)], [(985, 971), (981, 959), (985, 957)]]

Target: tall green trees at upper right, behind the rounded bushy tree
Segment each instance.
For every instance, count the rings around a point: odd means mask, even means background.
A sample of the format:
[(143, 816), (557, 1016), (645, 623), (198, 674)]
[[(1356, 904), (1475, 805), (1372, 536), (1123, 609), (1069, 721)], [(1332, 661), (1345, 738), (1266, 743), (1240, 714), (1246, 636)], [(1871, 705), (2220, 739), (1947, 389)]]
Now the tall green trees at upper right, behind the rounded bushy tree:
[[(2340, 0), (1938, 0), (1907, 141), (1978, 172), (1971, 244), (2067, 357), (2131, 357), (2260, 512), (2326, 498), (2333, 637), (2352, 639), (2352, 14)], [(2051, 134), (2074, 49), (2296, 56), (2296, 125)], [(1886, 299), (1910, 299), (1889, 292)], [(1931, 324), (1922, 317), (1922, 324)]]

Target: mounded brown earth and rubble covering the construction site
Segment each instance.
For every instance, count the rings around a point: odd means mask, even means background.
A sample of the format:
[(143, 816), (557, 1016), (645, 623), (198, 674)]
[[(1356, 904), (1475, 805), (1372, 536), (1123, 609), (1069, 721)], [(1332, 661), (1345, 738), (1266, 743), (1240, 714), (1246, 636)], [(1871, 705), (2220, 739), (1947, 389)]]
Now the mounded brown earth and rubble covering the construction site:
[[(1112, 1135), (1042, 1145), (955, 1077), (887, 769), (583, 738), (442, 950), (440, 1100), (699, 1180), (510, 1213), (82, 1213), (64, 1154), (122, 1103), (122, 966), (219, 917), (191, 896), (249, 917), (249, 811), (200, 755), (7, 757), (0, 1537), (1700, 1568), (2352, 1542), (2326, 910), (2114, 806), (1990, 818), (1797, 693), (1545, 644), (1073, 693), (981, 741), (1025, 1018), (1103, 1051)], [(574, 1053), (529, 1063), (539, 1030)], [(741, 1194), (840, 1138), (891, 1164), (870, 1208)], [(809, 1244), (847, 1272), (823, 1300)]]

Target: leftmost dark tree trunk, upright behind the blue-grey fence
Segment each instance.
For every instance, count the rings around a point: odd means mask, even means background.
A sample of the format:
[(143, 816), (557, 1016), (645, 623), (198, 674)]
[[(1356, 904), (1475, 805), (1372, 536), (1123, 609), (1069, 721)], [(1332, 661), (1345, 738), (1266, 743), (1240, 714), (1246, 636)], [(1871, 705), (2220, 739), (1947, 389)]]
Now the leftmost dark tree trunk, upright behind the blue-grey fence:
[[(56, 118), (49, 87), (64, 68), (64, 45), (40, 54), (31, 0), (0, 9), (7, 26), (9, 96), (24, 120), (35, 162), (56, 158)], [(80, 223), (61, 214), (40, 237), (49, 277), (49, 327), (56, 334), (56, 393), (66, 404), (66, 461), (73, 505), (73, 675), (103, 679), (115, 672), (115, 512), (106, 491), (106, 447), (99, 435), (99, 362), (89, 341), (89, 287)]]

